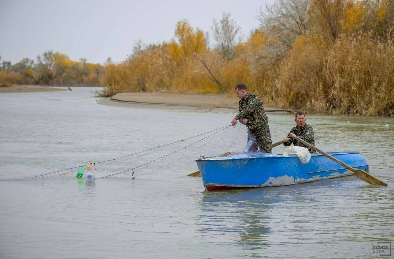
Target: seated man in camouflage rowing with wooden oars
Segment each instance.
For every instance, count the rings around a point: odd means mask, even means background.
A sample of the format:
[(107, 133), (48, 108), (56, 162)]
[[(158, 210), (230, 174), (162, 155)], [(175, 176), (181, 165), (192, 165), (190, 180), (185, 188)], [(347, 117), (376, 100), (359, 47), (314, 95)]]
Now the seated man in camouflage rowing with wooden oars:
[[(305, 123), (306, 120), (307, 119), (305, 118), (305, 114), (303, 113), (296, 114), (296, 118), (294, 119), (294, 121), (296, 122), (297, 126), (290, 130), (290, 132), (287, 134), (287, 138), (282, 139), (282, 142), (285, 146), (290, 146), (293, 143), (294, 146), (302, 146), (304, 148), (307, 148), (307, 146), (305, 146), (301, 142), (289, 138), (293, 136), (297, 136), (300, 139), (312, 144), (313, 146), (315, 145), (312, 126), (306, 124)], [(316, 151), (309, 148), (309, 152), (316, 152)]]

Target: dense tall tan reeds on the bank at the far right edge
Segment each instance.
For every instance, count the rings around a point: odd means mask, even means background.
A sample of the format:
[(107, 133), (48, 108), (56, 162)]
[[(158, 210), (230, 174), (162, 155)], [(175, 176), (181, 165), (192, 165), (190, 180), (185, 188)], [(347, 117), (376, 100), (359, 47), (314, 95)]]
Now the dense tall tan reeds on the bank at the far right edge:
[(341, 114), (394, 113), (394, 44), (370, 33), (343, 37), (329, 51), (322, 73), (325, 107)]

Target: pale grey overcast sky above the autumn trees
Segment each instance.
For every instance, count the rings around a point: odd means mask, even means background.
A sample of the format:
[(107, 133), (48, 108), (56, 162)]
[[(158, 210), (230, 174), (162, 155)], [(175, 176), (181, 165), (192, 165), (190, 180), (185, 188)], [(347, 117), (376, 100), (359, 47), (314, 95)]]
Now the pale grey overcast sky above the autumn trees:
[(107, 57), (118, 62), (139, 39), (171, 40), (181, 19), (211, 31), (212, 19), (220, 20), (223, 12), (231, 13), (246, 37), (259, 26), (256, 15), (266, 2), (274, 0), (0, 0), (0, 55), (12, 64), (24, 57), (35, 60), (46, 50), (91, 63)]

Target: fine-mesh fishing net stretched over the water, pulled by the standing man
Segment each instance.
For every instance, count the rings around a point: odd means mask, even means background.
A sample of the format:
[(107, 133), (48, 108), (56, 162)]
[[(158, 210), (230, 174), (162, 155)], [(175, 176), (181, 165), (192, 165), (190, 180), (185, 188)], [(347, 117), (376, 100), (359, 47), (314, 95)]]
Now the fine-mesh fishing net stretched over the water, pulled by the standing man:
[[(109, 176), (111, 178), (158, 179), (188, 175), (198, 170), (195, 160), (201, 156), (216, 156), (226, 152), (242, 153), (246, 143), (247, 128), (238, 123), (234, 127), (225, 127), (154, 150), (97, 163), (90, 172), (95, 174), (96, 178)], [(77, 170), (78, 168), (74, 168), (54, 175), (75, 177)]]

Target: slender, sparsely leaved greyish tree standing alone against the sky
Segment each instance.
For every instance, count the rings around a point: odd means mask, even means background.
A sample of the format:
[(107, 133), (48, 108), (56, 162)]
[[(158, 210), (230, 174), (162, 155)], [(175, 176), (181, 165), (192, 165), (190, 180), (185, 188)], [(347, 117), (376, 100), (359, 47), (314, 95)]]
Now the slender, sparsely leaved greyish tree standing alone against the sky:
[(237, 36), (240, 37), (241, 27), (230, 16), (230, 13), (223, 13), (222, 19), (219, 22), (214, 19), (211, 27), (224, 61), (234, 57), (234, 46), (240, 41)]

